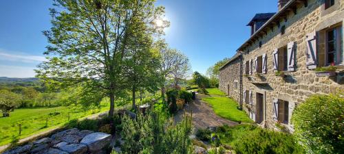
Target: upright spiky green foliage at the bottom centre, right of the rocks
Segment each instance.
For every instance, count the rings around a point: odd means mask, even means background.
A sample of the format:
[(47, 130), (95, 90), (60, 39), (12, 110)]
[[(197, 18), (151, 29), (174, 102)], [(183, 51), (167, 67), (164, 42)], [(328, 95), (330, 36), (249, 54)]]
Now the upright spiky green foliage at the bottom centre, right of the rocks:
[(166, 125), (164, 118), (150, 113), (137, 119), (122, 119), (123, 153), (191, 153), (191, 117), (178, 125)]

